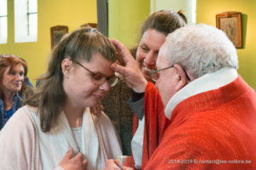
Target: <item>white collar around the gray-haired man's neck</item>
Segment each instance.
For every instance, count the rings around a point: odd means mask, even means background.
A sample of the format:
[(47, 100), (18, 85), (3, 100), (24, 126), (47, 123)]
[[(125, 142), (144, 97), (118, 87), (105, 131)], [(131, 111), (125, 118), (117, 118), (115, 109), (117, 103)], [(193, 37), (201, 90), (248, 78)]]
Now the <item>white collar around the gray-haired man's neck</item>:
[(189, 82), (189, 84), (174, 94), (168, 101), (165, 109), (166, 117), (171, 119), (172, 111), (184, 99), (188, 99), (195, 94), (201, 94), (203, 92), (224, 87), (230, 82), (233, 82), (236, 77), (238, 77), (236, 69), (223, 68), (219, 71), (199, 77), (193, 82)]

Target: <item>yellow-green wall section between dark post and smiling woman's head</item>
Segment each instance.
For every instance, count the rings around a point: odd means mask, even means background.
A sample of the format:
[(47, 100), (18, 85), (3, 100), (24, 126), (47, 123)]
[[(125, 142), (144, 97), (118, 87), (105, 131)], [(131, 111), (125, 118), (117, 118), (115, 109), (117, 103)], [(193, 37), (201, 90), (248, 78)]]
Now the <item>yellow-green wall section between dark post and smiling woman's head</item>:
[(109, 0), (108, 37), (137, 45), (143, 21), (150, 14), (150, 0)]

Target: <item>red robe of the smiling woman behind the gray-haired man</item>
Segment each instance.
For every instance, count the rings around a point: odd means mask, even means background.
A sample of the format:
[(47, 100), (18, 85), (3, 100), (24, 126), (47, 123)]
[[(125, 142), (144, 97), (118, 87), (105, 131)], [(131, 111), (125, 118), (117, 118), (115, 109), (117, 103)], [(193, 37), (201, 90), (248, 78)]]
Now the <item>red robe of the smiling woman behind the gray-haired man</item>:
[[(143, 164), (146, 166), (154, 150), (160, 144), (166, 127), (170, 121), (165, 116), (165, 108), (160, 99), (160, 93), (152, 82), (148, 82), (144, 94), (144, 136), (143, 136)], [(133, 135), (137, 130), (138, 118), (134, 115)]]

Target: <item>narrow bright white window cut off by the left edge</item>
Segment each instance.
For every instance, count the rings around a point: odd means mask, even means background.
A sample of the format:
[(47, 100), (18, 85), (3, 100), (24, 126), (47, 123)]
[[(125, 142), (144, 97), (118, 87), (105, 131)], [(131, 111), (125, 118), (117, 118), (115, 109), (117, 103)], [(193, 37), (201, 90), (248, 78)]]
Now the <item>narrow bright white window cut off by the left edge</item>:
[[(0, 0), (0, 44), (7, 43), (7, 34), (8, 34), (7, 3), (8, 3), (7, 0)], [(6, 11), (6, 13), (3, 14), (3, 11)]]

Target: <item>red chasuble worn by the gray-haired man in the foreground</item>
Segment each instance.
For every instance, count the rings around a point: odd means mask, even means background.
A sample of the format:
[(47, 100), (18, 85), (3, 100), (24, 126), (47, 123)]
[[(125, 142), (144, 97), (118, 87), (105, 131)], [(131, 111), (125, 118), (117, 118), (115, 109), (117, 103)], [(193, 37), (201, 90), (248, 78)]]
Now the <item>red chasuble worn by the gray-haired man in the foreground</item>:
[(183, 100), (171, 121), (145, 169), (256, 169), (256, 94), (241, 77)]

